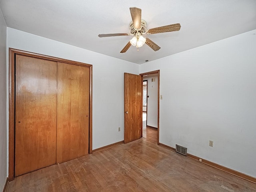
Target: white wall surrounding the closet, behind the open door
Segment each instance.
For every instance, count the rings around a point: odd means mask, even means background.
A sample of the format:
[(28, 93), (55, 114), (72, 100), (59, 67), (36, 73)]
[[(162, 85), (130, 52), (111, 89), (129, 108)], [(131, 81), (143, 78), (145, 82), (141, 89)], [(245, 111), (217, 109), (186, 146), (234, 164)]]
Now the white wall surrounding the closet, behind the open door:
[(124, 72), (139, 74), (138, 64), (12, 28), (7, 46), (92, 64), (92, 149), (124, 140)]

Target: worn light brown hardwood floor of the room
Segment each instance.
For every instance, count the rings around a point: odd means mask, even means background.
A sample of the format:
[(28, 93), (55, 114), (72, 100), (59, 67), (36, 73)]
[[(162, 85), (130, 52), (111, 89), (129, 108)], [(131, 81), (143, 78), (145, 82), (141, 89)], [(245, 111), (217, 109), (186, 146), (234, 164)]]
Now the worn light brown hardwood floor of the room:
[[(256, 192), (256, 184), (143, 138), (49, 166), (10, 182), (7, 192)], [(146, 137), (146, 138), (145, 138)]]

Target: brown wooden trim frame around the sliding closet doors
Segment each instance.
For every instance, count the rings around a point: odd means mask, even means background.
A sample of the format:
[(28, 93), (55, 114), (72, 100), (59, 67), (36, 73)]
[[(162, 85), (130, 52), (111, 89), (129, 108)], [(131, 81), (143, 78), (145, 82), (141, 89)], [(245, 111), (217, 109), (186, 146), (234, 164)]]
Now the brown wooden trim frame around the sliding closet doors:
[(33, 52), (22, 51), (9, 48), (9, 175), (8, 180), (14, 180), (14, 160), (15, 160), (15, 56), (16, 54), (30, 56), (34, 58), (46, 59), (56, 62), (64, 62), (90, 68), (90, 88), (89, 88), (89, 154), (92, 154), (92, 65), (81, 62), (46, 56)]

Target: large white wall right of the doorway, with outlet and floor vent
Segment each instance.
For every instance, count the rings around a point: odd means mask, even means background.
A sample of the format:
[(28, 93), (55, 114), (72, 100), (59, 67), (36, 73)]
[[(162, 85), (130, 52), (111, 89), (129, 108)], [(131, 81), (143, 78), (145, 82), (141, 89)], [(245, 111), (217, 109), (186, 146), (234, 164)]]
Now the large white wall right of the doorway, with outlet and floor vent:
[(160, 143), (256, 177), (255, 34), (140, 66), (140, 73), (160, 69)]

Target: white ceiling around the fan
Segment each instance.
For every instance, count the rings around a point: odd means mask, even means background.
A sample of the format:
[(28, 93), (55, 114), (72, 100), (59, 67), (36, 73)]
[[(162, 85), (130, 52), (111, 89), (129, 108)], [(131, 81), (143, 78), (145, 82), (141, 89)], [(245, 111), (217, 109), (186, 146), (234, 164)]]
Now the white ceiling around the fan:
[[(129, 33), (134, 6), (147, 29), (180, 23), (180, 31), (145, 35), (156, 52), (145, 44), (120, 53), (132, 36), (98, 34)], [(256, 0), (0, 0), (0, 8), (10, 28), (137, 64), (256, 29)]]

